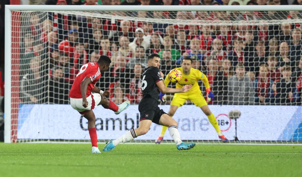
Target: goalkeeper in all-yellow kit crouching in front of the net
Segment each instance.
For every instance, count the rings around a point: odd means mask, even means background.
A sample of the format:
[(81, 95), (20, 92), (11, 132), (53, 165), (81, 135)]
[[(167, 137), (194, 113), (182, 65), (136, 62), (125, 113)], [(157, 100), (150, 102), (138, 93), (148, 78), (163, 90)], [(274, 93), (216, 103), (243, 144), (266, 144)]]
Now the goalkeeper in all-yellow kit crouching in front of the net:
[[(228, 142), (228, 139), (222, 134), (218, 123), (216, 121), (215, 116), (210, 111), (209, 107), (207, 106), (207, 102), (202, 96), (201, 90), (199, 88), (199, 85), (197, 83), (198, 80), (202, 80), (207, 91), (207, 97), (212, 100), (214, 100), (214, 94), (210, 91), (210, 85), (209, 81), (207, 79), (207, 76), (204, 75), (201, 71), (198, 69), (192, 68), (192, 59), (189, 57), (184, 57), (182, 59), (181, 67), (177, 68), (182, 72), (182, 80), (179, 81), (176, 84), (176, 88), (182, 88), (186, 84), (192, 84), (191, 90), (189, 90), (186, 93), (175, 93), (174, 97), (171, 102), (170, 110), (169, 110), (169, 116), (173, 116), (177, 110), (178, 107), (182, 106), (186, 100), (190, 100), (195, 104), (195, 106), (198, 106), (201, 108), (201, 110), (204, 112), (205, 115), (207, 115), (210, 123), (213, 125), (215, 130), (217, 131), (218, 137), (225, 143)], [(165, 78), (165, 86), (167, 87), (170, 83), (169, 78)], [(165, 102), (165, 94), (159, 93), (159, 99), (162, 102)], [(163, 140), (163, 137), (165, 135), (167, 127), (162, 126), (162, 132), (160, 133), (159, 137), (156, 139), (155, 143), (160, 144)]]

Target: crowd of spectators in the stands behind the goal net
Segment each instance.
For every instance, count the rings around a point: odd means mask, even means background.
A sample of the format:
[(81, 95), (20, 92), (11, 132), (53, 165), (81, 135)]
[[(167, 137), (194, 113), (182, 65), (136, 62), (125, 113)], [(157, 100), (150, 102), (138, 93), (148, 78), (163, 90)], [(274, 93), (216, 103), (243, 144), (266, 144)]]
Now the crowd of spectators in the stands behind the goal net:
[[(47, 0), (47, 5), (98, 5), (95, 0)], [(104, 0), (102, 5), (302, 5), (302, 0)], [(150, 8), (151, 9), (151, 8)], [(142, 99), (146, 57), (158, 53), (166, 75), (193, 59), (206, 74), (215, 99), (209, 104), (301, 105), (302, 40), (299, 23), (180, 25), (165, 19), (248, 21), (301, 18), (298, 11), (113, 12), (162, 19), (160, 23), (49, 12), (22, 12), (20, 98), (23, 103), (68, 104), (76, 74), (100, 55), (111, 58), (99, 85), (115, 103)], [(201, 88), (205, 93), (202, 84)], [(41, 94), (44, 93), (44, 94)], [(171, 95), (172, 96), (172, 95)], [(169, 104), (167, 101), (165, 104)], [(190, 104), (190, 102), (187, 102)]]

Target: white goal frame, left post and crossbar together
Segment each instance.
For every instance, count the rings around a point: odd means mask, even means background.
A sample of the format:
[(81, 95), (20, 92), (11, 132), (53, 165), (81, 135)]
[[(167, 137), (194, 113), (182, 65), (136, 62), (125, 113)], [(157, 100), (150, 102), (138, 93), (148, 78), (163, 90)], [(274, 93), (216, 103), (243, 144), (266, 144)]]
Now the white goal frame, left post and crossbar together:
[[(11, 103), (15, 95), (12, 95), (12, 62), (11, 58), (15, 55), (12, 48), (13, 34), (11, 13), (13, 11), (302, 11), (300, 5), (239, 5), (239, 6), (119, 6), (119, 5), (93, 5), (93, 6), (72, 6), (72, 5), (5, 5), (5, 143), (17, 142), (17, 132), (14, 132), (16, 125), (13, 122), (18, 122), (17, 118), (12, 117), (12, 109), (18, 110), (18, 103), (14, 106)], [(20, 23), (20, 19), (19, 19)], [(18, 41), (17, 41), (18, 44)], [(18, 53), (16, 54), (18, 55)], [(17, 57), (15, 58), (17, 59)], [(15, 126), (15, 127), (12, 127)], [(18, 125), (17, 125), (18, 126)]]

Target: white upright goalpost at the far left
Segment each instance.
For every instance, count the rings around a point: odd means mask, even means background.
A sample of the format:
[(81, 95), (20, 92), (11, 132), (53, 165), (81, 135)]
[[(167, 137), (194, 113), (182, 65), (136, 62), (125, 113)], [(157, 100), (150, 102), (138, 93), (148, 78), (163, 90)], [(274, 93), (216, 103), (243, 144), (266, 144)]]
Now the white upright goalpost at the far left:
[(11, 10), (5, 6), (4, 142), (11, 143)]

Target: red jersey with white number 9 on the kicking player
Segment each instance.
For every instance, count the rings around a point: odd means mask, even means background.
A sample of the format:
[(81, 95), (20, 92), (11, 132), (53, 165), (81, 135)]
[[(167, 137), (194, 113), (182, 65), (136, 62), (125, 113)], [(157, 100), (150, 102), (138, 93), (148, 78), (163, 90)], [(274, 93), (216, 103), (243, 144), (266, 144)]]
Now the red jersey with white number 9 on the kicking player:
[(69, 97), (70, 98), (82, 98), (81, 94), (81, 82), (85, 77), (89, 77), (91, 83), (88, 84), (86, 98), (91, 95), (92, 89), (95, 87), (96, 82), (101, 77), (100, 68), (98, 67), (98, 63), (87, 63), (83, 65), (76, 75), (75, 81), (73, 82)]

